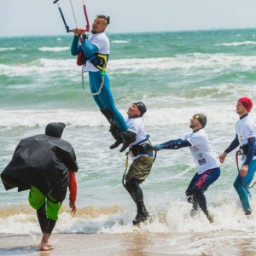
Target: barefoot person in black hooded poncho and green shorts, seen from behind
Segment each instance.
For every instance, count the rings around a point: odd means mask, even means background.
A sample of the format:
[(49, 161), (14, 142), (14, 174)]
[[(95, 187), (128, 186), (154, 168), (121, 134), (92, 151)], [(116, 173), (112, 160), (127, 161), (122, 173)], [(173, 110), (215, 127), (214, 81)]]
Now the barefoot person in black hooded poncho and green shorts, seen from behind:
[(75, 172), (79, 166), (73, 147), (61, 139), (63, 123), (49, 123), (45, 135), (27, 137), (20, 141), (12, 160), (1, 173), (6, 190), (30, 189), (28, 201), (37, 210), (43, 232), (41, 251), (53, 249), (49, 236), (55, 228), (62, 201), (70, 190), (69, 206), (76, 213), (77, 182)]

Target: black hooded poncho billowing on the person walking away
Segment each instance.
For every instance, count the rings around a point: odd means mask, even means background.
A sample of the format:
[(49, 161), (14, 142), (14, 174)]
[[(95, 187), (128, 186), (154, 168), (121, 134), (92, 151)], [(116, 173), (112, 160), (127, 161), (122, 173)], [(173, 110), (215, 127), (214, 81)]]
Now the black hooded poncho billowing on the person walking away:
[(18, 191), (22, 191), (34, 186), (42, 194), (52, 195), (56, 201), (65, 199), (68, 169), (77, 172), (79, 167), (72, 145), (61, 139), (64, 127), (62, 123), (50, 123), (45, 129), (48, 135), (20, 141), (12, 160), (1, 173), (6, 190), (18, 187)]

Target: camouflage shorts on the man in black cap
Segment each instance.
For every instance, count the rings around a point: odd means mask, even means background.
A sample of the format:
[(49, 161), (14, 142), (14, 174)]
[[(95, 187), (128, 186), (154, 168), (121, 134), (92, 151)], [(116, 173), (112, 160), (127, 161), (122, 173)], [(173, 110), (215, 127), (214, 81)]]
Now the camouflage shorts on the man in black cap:
[(148, 177), (153, 165), (153, 156), (143, 155), (134, 160), (125, 175), (125, 180), (129, 181), (131, 178), (137, 178), (140, 183), (143, 183)]

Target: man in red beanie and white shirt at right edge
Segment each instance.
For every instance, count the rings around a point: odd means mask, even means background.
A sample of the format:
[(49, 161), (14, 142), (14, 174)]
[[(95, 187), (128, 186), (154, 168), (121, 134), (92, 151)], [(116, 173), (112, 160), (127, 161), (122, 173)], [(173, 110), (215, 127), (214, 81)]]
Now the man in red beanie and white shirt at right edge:
[(256, 171), (256, 125), (249, 116), (249, 112), (253, 108), (253, 101), (248, 97), (241, 97), (236, 103), (236, 113), (239, 120), (236, 122), (236, 137), (224, 153), (219, 155), (219, 160), (224, 160), (232, 150), (240, 145), (242, 154), (242, 166), (237, 174), (234, 187), (239, 195), (241, 206), (245, 215), (251, 214), (249, 198), (251, 193), (249, 190), (250, 183)]

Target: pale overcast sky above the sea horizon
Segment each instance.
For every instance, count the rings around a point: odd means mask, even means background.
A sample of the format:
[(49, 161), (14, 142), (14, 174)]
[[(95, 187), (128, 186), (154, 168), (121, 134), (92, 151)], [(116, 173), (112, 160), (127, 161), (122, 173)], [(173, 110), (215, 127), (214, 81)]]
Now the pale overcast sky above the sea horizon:
[[(70, 0), (59, 6), (76, 27)], [(83, 1), (72, 0), (77, 24), (85, 27)], [(91, 22), (111, 17), (108, 32), (161, 32), (256, 27), (256, 0), (84, 0)], [(66, 33), (53, 0), (0, 0), (0, 37)]]

